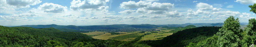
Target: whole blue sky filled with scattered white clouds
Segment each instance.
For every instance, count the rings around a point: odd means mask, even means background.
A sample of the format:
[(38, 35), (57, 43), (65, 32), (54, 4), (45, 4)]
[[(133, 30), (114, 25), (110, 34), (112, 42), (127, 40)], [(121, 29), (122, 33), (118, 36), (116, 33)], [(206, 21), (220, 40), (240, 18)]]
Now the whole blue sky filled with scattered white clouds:
[(256, 0), (0, 0), (0, 25), (248, 23)]

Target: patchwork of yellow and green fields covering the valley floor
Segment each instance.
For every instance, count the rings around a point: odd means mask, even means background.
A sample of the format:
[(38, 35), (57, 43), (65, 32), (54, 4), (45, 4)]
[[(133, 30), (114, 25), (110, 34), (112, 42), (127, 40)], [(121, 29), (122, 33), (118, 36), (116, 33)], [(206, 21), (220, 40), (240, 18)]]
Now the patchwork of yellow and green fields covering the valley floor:
[[(154, 31), (154, 32), (145, 32), (145, 33), (138, 33), (137, 32), (116, 32), (116, 33), (122, 33), (122, 34), (110, 34), (108, 32), (87, 32), (83, 34), (91, 35), (95, 39), (115, 39), (119, 41), (132, 41), (133, 39), (140, 37), (141, 35), (144, 35), (144, 37), (141, 37), (141, 39), (138, 41), (138, 43), (144, 43), (143, 41), (156, 41), (159, 39), (163, 39), (166, 36), (172, 35), (172, 32), (169, 32), (171, 30), (161, 30), (161, 31)], [(149, 33), (148, 35), (145, 35), (146, 33)], [(151, 34), (150, 34), (151, 33)], [(157, 39), (158, 38), (158, 39)]]

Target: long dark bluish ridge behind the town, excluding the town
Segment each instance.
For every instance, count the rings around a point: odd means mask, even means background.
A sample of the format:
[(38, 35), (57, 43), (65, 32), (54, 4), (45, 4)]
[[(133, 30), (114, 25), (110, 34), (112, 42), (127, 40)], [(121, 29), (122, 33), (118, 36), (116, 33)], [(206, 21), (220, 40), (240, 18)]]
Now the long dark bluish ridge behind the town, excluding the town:
[(160, 26), (153, 25), (153, 24), (134, 24), (134, 25), (128, 25), (128, 24), (113, 24), (113, 25), (92, 25), (92, 26), (75, 26), (75, 25), (56, 25), (56, 24), (50, 24), (50, 25), (21, 25), (17, 27), (32, 27), (32, 28), (56, 28), (56, 29), (73, 29), (73, 30), (112, 30), (112, 29), (124, 29), (124, 28), (157, 28)]

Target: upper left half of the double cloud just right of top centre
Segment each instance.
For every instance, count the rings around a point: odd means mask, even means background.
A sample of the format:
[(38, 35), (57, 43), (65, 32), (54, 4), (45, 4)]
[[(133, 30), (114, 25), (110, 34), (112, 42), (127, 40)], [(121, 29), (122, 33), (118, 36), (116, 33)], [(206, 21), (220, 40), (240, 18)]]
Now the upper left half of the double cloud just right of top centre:
[(145, 1), (139, 1), (137, 3), (135, 3), (135, 1), (129, 1), (129, 2), (121, 3), (120, 8), (124, 8), (124, 9), (142, 8), (142, 7), (147, 7), (150, 4), (151, 2), (145, 2)]

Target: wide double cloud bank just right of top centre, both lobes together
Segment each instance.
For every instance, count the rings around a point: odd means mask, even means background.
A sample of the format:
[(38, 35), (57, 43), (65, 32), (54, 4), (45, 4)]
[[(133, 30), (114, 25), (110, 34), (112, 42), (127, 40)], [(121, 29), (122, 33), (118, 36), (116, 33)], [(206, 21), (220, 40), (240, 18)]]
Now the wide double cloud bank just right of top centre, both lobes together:
[(120, 8), (124, 9), (133, 9), (138, 8), (136, 10), (137, 13), (155, 13), (162, 14), (166, 11), (170, 10), (174, 7), (174, 4), (171, 3), (151, 3), (145, 1), (139, 1), (135, 3), (135, 1), (123, 2), (120, 4)]

